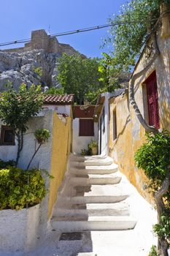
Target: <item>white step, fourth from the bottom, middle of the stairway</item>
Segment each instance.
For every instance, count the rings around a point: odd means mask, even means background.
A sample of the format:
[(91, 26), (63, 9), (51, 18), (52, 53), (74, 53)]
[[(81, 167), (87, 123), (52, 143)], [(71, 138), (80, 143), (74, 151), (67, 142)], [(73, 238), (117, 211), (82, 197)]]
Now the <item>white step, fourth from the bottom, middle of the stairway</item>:
[(121, 181), (120, 174), (88, 174), (85, 176), (77, 175), (70, 178), (72, 184), (88, 185), (88, 184), (117, 184)]

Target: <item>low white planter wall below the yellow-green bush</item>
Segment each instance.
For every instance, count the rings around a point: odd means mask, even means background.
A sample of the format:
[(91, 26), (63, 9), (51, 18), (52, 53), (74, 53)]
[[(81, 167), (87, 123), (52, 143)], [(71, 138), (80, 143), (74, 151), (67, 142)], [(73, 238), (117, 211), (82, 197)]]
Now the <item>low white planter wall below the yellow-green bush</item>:
[(0, 211), (0, 251), (34, 249), (39, 239), (39, 205), (20, 211)]

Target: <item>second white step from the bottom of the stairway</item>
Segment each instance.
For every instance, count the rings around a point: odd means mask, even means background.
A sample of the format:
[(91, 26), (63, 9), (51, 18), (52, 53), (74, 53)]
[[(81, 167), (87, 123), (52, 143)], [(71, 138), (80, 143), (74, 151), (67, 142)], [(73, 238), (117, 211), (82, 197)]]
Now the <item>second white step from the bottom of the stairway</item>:
[(53, 217), (128, 216), (129, 205), (120, 203), (74, 204), (71, 208), (56, 208)]

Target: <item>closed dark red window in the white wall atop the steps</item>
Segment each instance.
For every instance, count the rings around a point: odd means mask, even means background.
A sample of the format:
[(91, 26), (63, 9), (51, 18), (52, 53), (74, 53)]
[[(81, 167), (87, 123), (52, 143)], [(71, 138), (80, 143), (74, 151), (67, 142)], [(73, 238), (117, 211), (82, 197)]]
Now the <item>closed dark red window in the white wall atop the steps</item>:
[(94, 136), (93, 119), (80, 118), (79, 136)]

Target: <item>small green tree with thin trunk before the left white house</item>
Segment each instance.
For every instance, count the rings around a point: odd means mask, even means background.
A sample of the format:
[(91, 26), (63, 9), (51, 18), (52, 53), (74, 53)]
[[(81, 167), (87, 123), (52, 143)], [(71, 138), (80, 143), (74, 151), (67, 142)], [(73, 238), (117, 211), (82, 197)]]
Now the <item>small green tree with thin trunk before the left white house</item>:
[(43, 94), (40, 86), (32, 85), (27, 89), (26, 84), (22, 84), (19, 91), (15, 91), (12, 85), (7, 86), (8, 90), (1, 93), (0, 98), (0, 118), (4, 124), (9, 125), (15, 131), (18, 140), (18, 153), (16, 165), (23, 148), (23, 134), (26, 132), (27, 122), (31, 116), (36, 116), (43, 104)]

